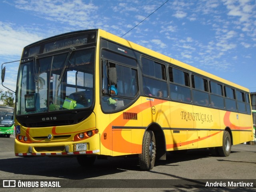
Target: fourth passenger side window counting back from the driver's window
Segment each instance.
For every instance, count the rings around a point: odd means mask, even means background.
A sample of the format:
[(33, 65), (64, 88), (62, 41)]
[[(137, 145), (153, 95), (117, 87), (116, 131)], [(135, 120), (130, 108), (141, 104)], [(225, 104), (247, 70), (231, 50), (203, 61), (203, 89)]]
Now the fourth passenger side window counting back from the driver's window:
[(210, 99), (213, 108), (224, 109), (224, 97), (222, 85), (210, 81)]

